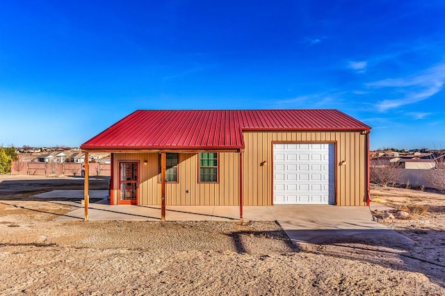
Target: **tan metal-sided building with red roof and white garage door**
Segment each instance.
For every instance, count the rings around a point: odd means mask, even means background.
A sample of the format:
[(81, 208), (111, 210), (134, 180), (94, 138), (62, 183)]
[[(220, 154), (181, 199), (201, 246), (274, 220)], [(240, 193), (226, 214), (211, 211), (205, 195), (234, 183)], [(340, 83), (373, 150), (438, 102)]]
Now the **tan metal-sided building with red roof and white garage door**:
[(115, 205), (366, 206), (370, 131), (339, 110), (137, 110), (81, 149), (111, 154)]

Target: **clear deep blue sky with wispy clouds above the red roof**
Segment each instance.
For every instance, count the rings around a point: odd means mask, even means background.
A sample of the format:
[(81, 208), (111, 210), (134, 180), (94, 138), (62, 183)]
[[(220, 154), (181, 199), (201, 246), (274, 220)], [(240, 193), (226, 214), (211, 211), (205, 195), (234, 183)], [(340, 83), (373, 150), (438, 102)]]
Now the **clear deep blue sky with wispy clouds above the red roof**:
[(445, 149), (445, 1), (19, 1), (0, 145), (76, 147), (137, 109), (336, 108), (371, 149)]

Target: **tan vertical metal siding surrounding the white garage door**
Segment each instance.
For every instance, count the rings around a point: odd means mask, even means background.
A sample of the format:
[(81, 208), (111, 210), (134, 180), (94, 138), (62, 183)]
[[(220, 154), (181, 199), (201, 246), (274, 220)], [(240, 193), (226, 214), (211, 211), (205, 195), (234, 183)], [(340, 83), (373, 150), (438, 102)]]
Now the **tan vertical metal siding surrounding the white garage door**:
[[(243, 198), (247, 206), (273, 204), (273, 143), (331, 142), (336, 204), (366, 206), (366, 133), (359, 131), (244, 131)], [(266, 166), (260, 166), (266, 161)], [(346, 165), (339, 165), (346, 161)]]

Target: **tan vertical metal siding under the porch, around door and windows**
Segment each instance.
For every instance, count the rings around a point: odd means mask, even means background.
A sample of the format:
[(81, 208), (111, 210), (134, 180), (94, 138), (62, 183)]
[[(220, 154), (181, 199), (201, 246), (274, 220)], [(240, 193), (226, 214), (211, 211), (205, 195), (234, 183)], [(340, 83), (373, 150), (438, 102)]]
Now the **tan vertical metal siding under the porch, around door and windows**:
[[(118, 204), (119, 161), (138, 161), (139, 204), (161, 204), (161, 183), (158, 176), (158, 153), (115, 153), (113, 188)], [(165, 202), (170, 206), (236, 206), (239, 204), (239, 157), (236, 152), (221, 152), (218, 183), (199, 183), (199, 154), (180, 153), (178, 183), (166, 184)], [(147, 165), (144, 161), (147, 160)], [(187, 192), (188, 190), (188, 192)]]

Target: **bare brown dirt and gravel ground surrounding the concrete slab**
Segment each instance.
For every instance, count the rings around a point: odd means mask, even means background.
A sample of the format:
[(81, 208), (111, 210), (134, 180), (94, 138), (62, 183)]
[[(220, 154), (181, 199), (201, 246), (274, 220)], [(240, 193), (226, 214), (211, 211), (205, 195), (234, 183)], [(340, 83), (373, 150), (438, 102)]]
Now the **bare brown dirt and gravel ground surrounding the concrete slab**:
[(445, 295), (444, 195), (373, 188), (379, 202), (418, 205), (408, 219), (374, 213), (410, 245), (297, 246), (275, 222), (59, 222), (79, 201), (33, 196), (82, 186), (0, 176), (1, 295)]

